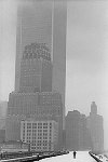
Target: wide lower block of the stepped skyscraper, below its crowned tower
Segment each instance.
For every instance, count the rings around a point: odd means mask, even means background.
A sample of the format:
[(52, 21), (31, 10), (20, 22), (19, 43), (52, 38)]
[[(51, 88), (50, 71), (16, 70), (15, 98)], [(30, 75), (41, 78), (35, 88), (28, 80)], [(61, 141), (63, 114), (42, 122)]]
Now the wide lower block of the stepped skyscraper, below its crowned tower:
[(63, 104), (57, 92), (11, 93), (6, 117), (6, 140), (19, 140), (21, 120), (55, 120), (58, 123), (58, 147), (63, 136)]

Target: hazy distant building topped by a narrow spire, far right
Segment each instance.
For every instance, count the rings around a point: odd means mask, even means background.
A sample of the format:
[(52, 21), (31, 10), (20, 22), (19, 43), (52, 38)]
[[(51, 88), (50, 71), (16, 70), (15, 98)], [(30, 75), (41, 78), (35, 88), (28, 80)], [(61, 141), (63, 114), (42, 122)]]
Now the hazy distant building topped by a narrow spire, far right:
[(92, 139), (92, 149), (102, 151), (104, 149), (104, 121), (103, 117), (97, 114), (97, 106), (95, 102), (91, 104), (91, 112), (87, 117), (87, 127)]

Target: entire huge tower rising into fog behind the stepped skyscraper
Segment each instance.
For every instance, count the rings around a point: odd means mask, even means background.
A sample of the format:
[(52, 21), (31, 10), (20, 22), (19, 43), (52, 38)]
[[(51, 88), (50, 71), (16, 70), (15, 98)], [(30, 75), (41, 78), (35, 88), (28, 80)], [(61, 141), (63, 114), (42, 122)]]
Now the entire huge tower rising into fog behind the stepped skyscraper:
[(67, 6), (60, 1), (26, 1), (17, 9), (15, 91), (19, 91), (21, 59), (31, 42), (46, 43), (53, 62), (52, 90), (63, 98), (65, 120)]

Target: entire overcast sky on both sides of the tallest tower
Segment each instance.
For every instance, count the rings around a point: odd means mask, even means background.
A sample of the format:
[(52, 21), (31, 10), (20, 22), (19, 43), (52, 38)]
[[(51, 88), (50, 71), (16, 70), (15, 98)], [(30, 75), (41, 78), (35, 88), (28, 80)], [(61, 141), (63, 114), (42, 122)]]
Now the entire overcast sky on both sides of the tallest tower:
[[(0, 100), (14, 90), (15, 0), (0, 1)], [(67, 10), (66, 112), (89, 114), (95, 100), (108, 135), (108, 2), (70, 1)], [(108, 145), (107, 145), (108, 147)]]

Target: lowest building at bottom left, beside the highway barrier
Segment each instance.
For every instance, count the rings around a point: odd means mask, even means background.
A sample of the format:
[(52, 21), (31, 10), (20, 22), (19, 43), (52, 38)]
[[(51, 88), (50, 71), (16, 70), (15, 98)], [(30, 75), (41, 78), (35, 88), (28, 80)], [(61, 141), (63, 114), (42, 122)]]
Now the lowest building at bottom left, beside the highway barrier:
[(1, 152), (25, 152), (29, 150), (29, 145), (23, 141), (9, 140), (1, 144)]

